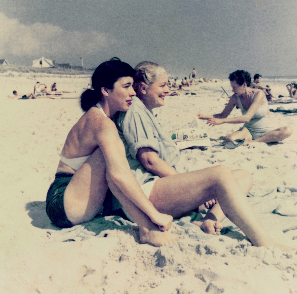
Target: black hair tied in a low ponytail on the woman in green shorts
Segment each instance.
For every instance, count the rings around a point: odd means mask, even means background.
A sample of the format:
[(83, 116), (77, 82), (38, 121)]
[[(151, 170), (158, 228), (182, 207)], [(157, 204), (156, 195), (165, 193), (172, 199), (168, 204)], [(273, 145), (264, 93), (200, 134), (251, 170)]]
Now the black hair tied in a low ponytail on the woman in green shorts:
[(87, 89), (80, 96), (82, 110), (88, 111), (92, 106), (101, 100), (101, 88), (113, 89), (113, 84), (121, 77), (134, 77), (135, 69), (129, 64), (113, 57), (109, 61), (101, 63), (92, 75), (92, 87)]

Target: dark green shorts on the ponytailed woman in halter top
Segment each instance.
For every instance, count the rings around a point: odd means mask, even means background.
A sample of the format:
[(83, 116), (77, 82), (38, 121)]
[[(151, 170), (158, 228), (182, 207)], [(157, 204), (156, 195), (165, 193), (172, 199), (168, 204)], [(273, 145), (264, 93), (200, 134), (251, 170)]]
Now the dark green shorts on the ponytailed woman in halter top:
[(46, 195), (46, 213), (51, 222), (60, 228), (73, 227), (64, 209), (64, 192), (72, 176), (72, 173), (56, 173)]

